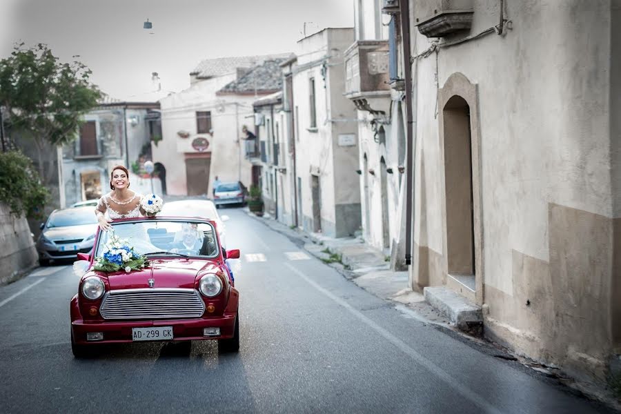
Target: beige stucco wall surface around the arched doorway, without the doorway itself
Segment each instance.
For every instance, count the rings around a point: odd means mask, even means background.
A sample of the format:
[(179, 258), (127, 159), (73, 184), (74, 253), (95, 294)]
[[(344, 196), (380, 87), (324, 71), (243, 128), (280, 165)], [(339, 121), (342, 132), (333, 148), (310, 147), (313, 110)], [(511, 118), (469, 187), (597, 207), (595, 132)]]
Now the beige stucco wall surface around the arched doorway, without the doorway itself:
[[(473, 3), (471, 34), (497, 24), (497, 1)], [(442, 48), (418, 59), (413, 72), (413, 284), (446, 277), (445, 265), (431, 265), (431, 257), (446, 262), (437, 89), (460, 73), (477, 88), (471, 123), (479, 126), (484, 286), (477, 297), (489, 306), (486, 333), (600, 378), (618, 302), (610, 295), (618, 255), (619, 40), (611, 29), (618, 14), (618, 1), (506, 2), (513, 30)], [(413, 43), (414, 55), (431, 44), (420, 34)]]

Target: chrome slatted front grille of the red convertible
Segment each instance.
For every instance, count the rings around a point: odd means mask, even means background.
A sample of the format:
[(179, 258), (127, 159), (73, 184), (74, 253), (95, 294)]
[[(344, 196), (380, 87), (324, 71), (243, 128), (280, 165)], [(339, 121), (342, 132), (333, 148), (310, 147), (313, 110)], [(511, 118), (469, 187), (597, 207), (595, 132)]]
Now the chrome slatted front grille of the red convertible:
[(186, 319), (201, 317), (205, 305), (194, 289), (127, 289), (106, 293), (103, 319)]

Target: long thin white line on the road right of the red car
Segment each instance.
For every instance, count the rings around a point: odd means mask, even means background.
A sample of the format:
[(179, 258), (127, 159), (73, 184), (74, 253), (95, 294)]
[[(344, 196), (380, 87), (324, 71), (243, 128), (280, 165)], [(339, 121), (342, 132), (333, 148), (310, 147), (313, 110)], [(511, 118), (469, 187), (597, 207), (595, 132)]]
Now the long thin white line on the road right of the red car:
[(386, 331), (386, 329), (382, 328), (382, 326), (376, 324), (375, 322), (373, 322), (373, 320), (364, 316), (360, 311), (358, 311), (356, 308), (354, 308), (353, 306), (345, 302), (340, 297), (337, 297), (333, 293), (322, 288), (322, 286), (319, 286), (317, 283), (313, 282), (313, 280), (310, 277), (306, 276), (304, 273), (302, 273), (302, 271), (297, 270), (297, 268), (293, 267), (291, 264), (288, 264), (286, 262), (284, 265), (290, 268), (291, 270), (293, 270), (293, 273), (296, 273), (299, 277), (302, 277), (302, 279), (304, 279), (306, 283), (313, 286), (313, 288), (319, 290), (319, 292), (323, 293), (324, 295), (332, 299), (334, 302), (344, 307), (347, 311), (349, 311), (349, 313), (351, 313), (352, 315), (360, 319), (362, 322), (364, 322), (365, 324), (373, 328), (377, 333), (382, 335), (384, 339), (388, 340), (388, 342), (391, 342), (391, 344), (399, 348), (406, 355), (409, 355), (410, 357), (412, 357), (412, 359), (414, 359), (418, 364), (427, 368), (427, 370), (431, 372), (433, 375), (435, 375), (436, 377), (439, 377), (440, 380), (443, 380), (444, 382), (446, 382), (446, 384), (449, 384), (449, 386), (455, 388), (455, 390), (458, 393), (460, 393), (462, 396), (466, 397), (468, 400), (470, 400), (477, 406), (480, 406), (481, 408), (483, 408), (486, 413), (498, 413), (498, 414), (501, 413), (500, 410), (495, 408), (495, 406), (493, 406), (491, 402), (487, 401), (484, 397), (482, 397), (482, 395), (479, 395), (476, 391), (473, 391), (468, 386), (465, 386), (461, 382), (455, 380), (455, 378), (453, 378), (449, 373), (447, 373), (442, 368), (440, 368), (440, 366), (437, 366), (433, 362), (426, 359), (423, 355), (420, 355), (420, 353), (418, 353), (414, 348), (412, 348), (411, 346), (408, 346), (408, 344), (403, 342), (401, 339), (395, 337), (395, 335), (391, 334), (390, 332)]

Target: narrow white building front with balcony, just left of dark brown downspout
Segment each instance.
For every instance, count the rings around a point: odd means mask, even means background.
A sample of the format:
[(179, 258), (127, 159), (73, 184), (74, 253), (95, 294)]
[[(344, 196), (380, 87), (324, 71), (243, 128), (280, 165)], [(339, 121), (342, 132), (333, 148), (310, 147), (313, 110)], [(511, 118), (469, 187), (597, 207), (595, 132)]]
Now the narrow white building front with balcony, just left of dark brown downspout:
[[(397, 18), (377, 0), (355, 3), (355, 42), (345, 51), (345, 92), (357, 109), (362, 229), (366, 243), (405, 270), (406, 140)], [(384, 24), (388, 21), (388, 24)]]

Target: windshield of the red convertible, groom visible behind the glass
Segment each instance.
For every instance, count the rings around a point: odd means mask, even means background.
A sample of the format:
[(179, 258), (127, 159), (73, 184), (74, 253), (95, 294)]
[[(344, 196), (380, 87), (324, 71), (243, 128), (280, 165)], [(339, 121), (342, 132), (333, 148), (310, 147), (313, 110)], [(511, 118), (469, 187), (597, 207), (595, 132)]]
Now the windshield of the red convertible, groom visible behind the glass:
[(112, 223), (112, 230), (101, 232), (95, 256), (103, 255), (110, 235), (117, 235), (139, 255), (181, 255), (217, 257), (219, 246), (213, 226), (192, 220), (140, 220)]

